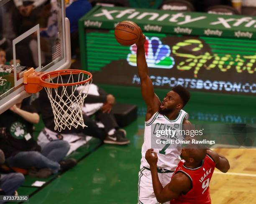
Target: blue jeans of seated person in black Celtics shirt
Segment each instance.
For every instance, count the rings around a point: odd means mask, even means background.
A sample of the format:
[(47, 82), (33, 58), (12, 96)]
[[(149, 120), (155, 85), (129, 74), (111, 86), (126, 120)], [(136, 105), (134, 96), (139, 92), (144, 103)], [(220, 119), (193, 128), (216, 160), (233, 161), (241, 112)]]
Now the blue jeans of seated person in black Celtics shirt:
[(64, 140), (54, 140), (49, 143), (41, 143), (41, 152), (19, 152), (13, 157), (6, 159), (10, 167), (22, 169), (51, 169), (56, 174), (59, 169), (59, 161), (64, 159), (69, 151), (69, 143)]

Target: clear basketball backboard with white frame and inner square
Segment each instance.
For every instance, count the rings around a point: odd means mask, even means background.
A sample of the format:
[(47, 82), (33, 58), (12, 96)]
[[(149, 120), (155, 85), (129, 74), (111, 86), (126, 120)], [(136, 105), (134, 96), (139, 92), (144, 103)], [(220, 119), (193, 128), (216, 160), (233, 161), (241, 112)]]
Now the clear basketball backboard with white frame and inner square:
[(0, 0), (0, 114), (30, 96), (23, 84), (30, 67), (50, 72), (71, 64), (65, 1), (22, 2)]

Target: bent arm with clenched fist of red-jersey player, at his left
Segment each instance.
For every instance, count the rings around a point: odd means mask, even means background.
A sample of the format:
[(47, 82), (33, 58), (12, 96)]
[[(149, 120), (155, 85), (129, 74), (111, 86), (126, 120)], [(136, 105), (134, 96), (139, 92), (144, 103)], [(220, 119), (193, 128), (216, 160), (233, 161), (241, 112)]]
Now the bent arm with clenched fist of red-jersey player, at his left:
[(168, 202), (172, 199), (177, 198), (182, 193), (187, 193), (192, 188), (192, 183), (189, 178), (178, 172), (172, 177), (172, 180), (165, 187), (162, 186), (158, 173), (157, 173), (157, 155), (155, 152), (154, 156), (152, 155), (153, 149), (148, 149), (146, 152), (146, 160), (150, 165), (153, 189), (156, 196), (156, 199), (159, 203)]

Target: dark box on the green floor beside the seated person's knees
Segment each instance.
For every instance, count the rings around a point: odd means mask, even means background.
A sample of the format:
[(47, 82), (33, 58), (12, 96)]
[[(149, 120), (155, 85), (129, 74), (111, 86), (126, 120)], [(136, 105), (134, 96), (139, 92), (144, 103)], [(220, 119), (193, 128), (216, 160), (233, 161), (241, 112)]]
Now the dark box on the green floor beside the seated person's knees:
[(137, 119), (137, 106), (133, 104), (116, 103), (112, 111), (120, 127), (125, 127)]

